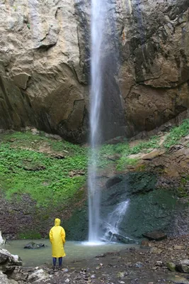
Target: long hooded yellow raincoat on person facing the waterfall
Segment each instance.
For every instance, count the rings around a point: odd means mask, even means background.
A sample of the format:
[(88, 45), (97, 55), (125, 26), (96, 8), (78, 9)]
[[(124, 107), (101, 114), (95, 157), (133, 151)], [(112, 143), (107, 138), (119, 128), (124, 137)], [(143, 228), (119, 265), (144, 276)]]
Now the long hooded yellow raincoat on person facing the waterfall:
[(59, 258), (66, 256), (64, 252), (64, 244), (66, 242), (65, 231), (59, 226), (60, 219), (55, 219), (55, 226), (50, 229), (50, 242), (52, 244), (52, 257)]

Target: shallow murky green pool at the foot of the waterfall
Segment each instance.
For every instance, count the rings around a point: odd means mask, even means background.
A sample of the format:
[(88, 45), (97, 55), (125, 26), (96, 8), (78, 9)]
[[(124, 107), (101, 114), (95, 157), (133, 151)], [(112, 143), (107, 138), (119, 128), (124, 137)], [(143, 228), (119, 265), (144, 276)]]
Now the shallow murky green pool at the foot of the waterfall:
[[(34, 241), (34, 240), (33, 240)], [(40, 266), (44, 263), (51, 263), (51, 244), (47, 239), (35, 240), (36, 244), (45, 244), (47, 247), (41, 249), (23, 249), (25, 244), (28, 244), (30, 240), (21, 241), (8, 241), (8, 243), (1, 248), (7, 249), (12, 254), (16, 254), (21, 257), (23, 266)], [(128, 247), (137, 247), (137, 245), (127, 244), (114, 244), (103, 243), (98, 246), (88, 245), (87, 243), (81, 243), (76, 241), (67, 241), (64, 249), (67, 256), (64, 258), (64, 263), (81, 260), (86, 258), (93, 258), (99, 254), (108, 251), (120, 251), (127, 249)]]

